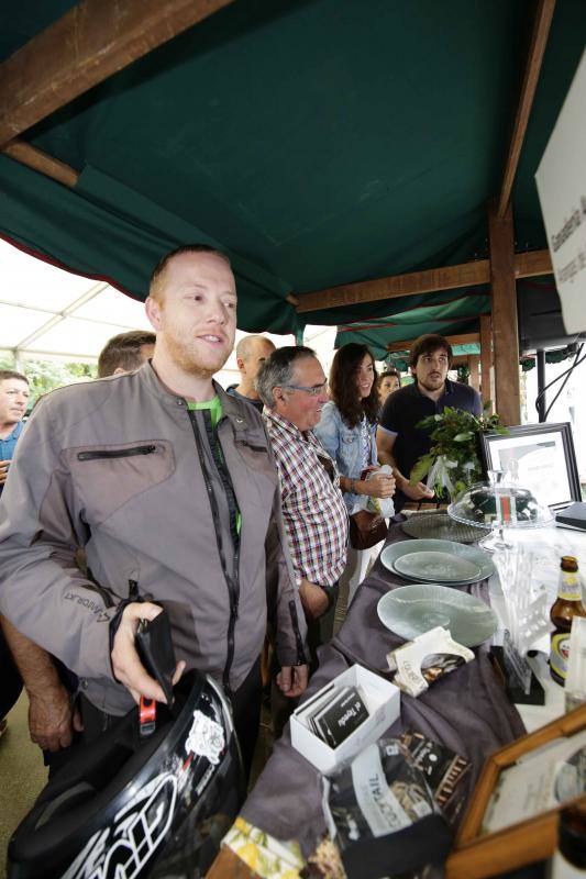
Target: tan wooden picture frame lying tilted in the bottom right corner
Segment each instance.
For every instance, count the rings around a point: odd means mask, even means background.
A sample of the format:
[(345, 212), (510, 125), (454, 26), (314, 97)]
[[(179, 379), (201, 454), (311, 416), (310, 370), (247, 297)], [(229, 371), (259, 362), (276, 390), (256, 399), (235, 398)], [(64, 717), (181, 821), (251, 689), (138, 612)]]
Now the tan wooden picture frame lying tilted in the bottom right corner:
[(485, 879), (549, 858), (557, 812), (586, 808), (586, 704), (497, 750), (485, 764), (446, 879)]

